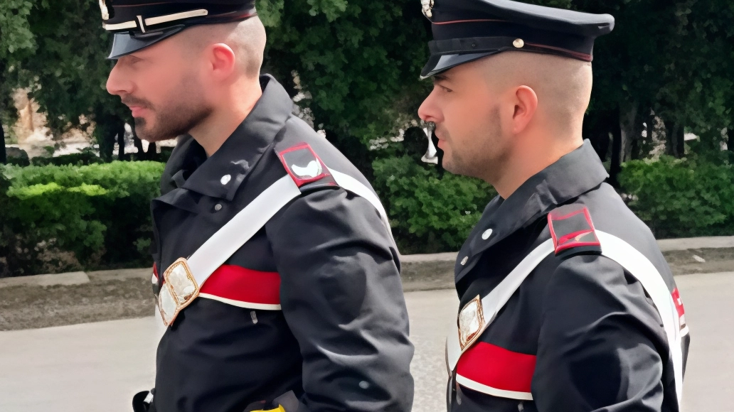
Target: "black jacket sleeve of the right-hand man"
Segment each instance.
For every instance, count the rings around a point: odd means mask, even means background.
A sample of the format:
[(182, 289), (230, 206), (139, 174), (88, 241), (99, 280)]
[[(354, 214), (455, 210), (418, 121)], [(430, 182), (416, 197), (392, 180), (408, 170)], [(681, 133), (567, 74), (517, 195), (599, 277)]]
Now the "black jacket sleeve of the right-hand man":
[(661, 411), (660, 353), (668, 349), (650, 302), (617, 262), (562, 262), (543, 301), (532, 383), (538, 411)]

